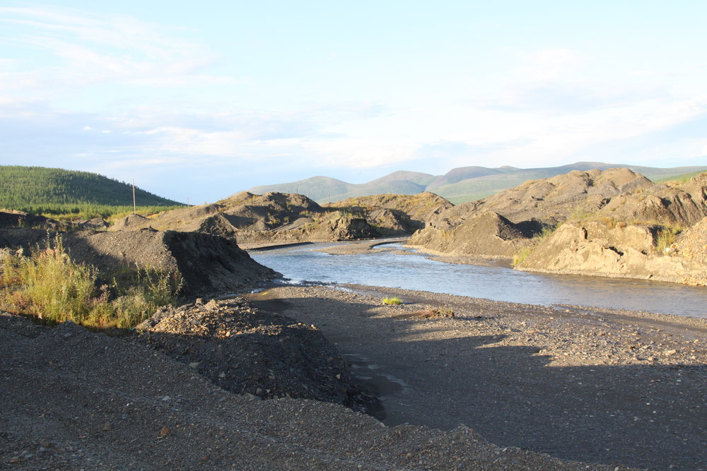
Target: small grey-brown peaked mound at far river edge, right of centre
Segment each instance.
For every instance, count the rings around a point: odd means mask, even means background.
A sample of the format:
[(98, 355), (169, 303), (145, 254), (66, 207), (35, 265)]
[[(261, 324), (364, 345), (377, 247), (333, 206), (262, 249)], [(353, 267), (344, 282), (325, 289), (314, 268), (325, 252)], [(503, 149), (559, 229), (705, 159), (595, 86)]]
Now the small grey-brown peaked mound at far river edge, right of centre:
[(407, 242), (408, 246), (422, 247), (425, 251), (440, 255), (506, 257), (531, 244), (513, 222), (493, 211), (474, 214), (451, 231), (428, 227), (416, 232)]

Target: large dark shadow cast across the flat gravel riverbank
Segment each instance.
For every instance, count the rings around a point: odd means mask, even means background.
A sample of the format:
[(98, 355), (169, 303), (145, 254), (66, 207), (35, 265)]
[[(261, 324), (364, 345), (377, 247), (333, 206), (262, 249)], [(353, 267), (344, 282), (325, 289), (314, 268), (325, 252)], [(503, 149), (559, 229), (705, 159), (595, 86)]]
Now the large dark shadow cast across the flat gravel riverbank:
[[(466, 424), (499, 446), (588, 463), (707, 463), (705, 365), (550, 366), (535, 347), (494, 346), (501, 335), (453, 338), (473, 319), (431, 325), (430, 333), (449, 335), (426, 340), (420, 325), (428, 321), (374, 318), (370, 307), (318, 298), (262, 304), (320, 328), (358, 381), (377, 388), (389, 426)], [(410, 323), (417, 328), (404, 330)]]

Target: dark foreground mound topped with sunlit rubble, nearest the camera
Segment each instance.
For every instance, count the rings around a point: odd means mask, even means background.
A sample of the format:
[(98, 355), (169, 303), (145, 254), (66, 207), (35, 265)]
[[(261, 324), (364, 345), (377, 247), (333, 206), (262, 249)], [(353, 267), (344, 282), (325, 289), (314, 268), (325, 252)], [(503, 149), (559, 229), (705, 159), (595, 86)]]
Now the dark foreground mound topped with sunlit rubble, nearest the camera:
[(320, 330), (255, 309), (245, 299), (163, 308), (138, 330), (141, 342), (189, 364), (232, 393), (315, 399), (364, 411), (346, 362)]

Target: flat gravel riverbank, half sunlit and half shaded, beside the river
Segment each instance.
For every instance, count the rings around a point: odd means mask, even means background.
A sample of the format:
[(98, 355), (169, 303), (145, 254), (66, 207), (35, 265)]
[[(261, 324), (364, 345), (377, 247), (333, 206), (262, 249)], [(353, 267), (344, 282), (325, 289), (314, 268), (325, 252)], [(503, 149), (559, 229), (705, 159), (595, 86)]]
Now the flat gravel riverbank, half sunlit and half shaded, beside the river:
[[(346, 288), (247, 298), (320, 328), (378, 388), (384, 424), (465, 424), (498, 446), (587, 463), (707, 463), (703, 319)], [(406, 304), (382, 305), (390, 296)], [(435, 307), (455, 317), (421, 317)]]

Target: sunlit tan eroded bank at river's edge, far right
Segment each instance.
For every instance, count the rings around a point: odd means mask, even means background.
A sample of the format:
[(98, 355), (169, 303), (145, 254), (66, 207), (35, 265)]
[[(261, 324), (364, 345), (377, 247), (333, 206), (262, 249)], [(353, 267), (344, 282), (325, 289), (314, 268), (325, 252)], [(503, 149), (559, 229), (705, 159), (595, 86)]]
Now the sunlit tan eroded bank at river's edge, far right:
[[(616, 222), (568, 222), (544, 239), (518, 270), (707, 285), (707, 220), (682, 242), (658, 250), (663, 228)], [(684, 254), (677, 247), (685, 247)], [(689, 249), (686, 249), (689, 247)]]

